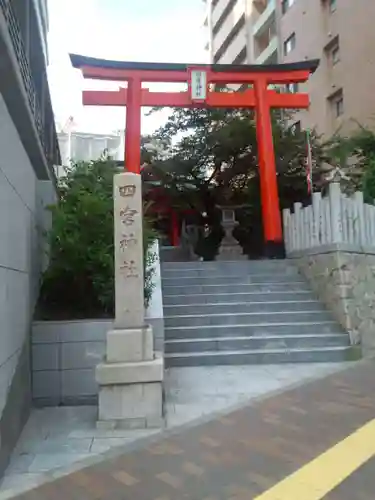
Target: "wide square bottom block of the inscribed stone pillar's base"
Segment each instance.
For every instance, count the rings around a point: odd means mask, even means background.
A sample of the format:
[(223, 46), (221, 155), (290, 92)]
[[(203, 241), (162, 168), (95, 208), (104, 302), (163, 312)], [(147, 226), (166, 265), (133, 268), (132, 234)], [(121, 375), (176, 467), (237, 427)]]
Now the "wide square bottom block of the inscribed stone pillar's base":
[(96, 367), (99, 388), (98, 427), (162, 427), (164, 362), (102, 363)]

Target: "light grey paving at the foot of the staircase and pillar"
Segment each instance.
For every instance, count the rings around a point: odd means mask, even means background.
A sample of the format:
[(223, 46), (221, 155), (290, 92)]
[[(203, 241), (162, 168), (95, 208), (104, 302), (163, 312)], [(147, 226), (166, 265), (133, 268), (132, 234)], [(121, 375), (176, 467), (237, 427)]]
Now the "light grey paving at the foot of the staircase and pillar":
[[(324, 376), (344, 366), (321, 364), (309, 365), (308, 367), (276, 365), (168, 369), (165, 379), (168, 427), (173, 428), (201, 418), (207, 419), (211, 413), (248, 404), (252, 398), (270, 390), (274, 391), (288, 384), (301, 382), (307, 377)], [(336, 408), (339, 407), (338, 403), (336, 406), (331, 403), (329, 408), (330, 411), (335, 412)], [(299, 407), (291, 403), (291, 411), (296, 412), (296, 410), (298, 413)], [(50, 451), (53, 455), (52, 452), (56, 451), (54, 443), (64, 441), (65, 444), (66, 442), (66, 446), (62, 446), (58, 450), (60, 458), (52, 457), (52, 460), (47, 461), (44, 453), (43, 471), (33, 474), (34, 479), (39, 476), (40, 480), (43, 481), (45, 480), (44, 468), (47, 465), (53, 471), (62, 462), (65, 463), (65, 459), (61, 458), (62, 453), (67, 455), (66, 466), (82, 468), (84, 465), (74, 464), (82, 458), (82, 453), (86, 456), (88, 442), (92, 443), (88, 456), (93, 457), (114, 447), (126, 447), (127, 443), (157, 433), (155, 430), (98, 430), (95, 426), (96, 415), (97, 408), (95, 407), (60, 407), (33, 411), (15, 456), (32, 450), (39, 453), (43, 447), (45, 452)], [(270, 425), (277, 425), (279, 421), (274, 414), (267, 414), (264, 419)], [(229, 418), (229, 421), (232, 419)], [(223, 422), (225, 422), (223, 425), (229, 425), (228, 418), (224, 418)], [(296, 431), (294, 432), (296, 433)], [(229, 460), (228, 457), (227, 459)], [(34, 457), (31, 457), (30, 460), (33, 461)], [(23, 472), (29, 470), (30, 460), (27, 463), (24, 461), (21, 469)], [(65, 465), (63, 466), (65, 467)], [(25, 482), (23, 482), (22, 475), (18, 475), (18, 485), (25, 483), (27, 486), (27, 477), (29, 476), (30, 473), (25, 475)], [(0, 496), (3, 490), (4, 488), (0, 490)], [(79, 491), (79, 494), (82, 494), (82, 498), (86, 498), (82, 491)], [(206, 496), (209, 497), (209, 494), (207, 493)]]

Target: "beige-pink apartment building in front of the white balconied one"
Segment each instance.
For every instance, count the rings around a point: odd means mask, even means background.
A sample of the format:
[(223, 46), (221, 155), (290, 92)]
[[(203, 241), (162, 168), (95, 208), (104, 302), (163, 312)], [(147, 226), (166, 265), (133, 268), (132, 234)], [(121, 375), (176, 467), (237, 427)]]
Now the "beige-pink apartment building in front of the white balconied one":
[(329, 137), (357, 122), (375, 126), (375, 2), (283, 0), (278, 4), (280, 61), (320, 59), (308, 84), (309, 111), (296, 113), (302, 128)]

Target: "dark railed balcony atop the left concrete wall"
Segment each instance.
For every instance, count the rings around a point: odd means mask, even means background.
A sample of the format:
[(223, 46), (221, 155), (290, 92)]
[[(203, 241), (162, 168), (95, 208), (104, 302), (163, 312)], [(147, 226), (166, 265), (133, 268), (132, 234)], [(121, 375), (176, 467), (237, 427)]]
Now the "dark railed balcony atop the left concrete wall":
[(0, 92), (37, 177), (51, 179), (53, 165), (60, 162), (60, 153), (45, 59), (38, 38), (41, 35), (31, 24), (31, 16), (35, 16), (33, 3), (25, 2), (25, 18), (30, 22), (28, 44), (25, 44), (25, 32), (21, 31), (12, 4), (10, 0), (0, 0)]

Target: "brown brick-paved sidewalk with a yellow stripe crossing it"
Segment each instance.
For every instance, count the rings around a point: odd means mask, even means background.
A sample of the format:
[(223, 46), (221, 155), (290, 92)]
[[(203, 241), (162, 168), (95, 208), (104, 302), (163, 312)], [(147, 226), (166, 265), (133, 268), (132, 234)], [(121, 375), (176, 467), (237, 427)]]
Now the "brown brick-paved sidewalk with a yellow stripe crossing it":
[[(375, 363), (361, 363), (17, 498), (251, 500), (374, 419), (374, 389)], [(373, 500), (374, 467), (326, 498)]]

